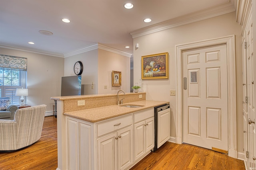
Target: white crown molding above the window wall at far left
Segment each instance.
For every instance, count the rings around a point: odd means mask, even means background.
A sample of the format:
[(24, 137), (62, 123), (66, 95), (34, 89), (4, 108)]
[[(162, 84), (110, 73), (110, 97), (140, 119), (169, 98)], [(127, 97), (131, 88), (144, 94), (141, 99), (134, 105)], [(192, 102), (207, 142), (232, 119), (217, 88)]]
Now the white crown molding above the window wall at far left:
[(29, 52), (29, 53), (50, 55), (50, 56), (54, 56), (54, 57), (62, 57), (62, 58), (64, 57), (64, 55), (62, 53), (53, 53), (50, 51), (43, 51), (43, 50), (39, 50), (39, 49), (27, 48), (27, 47), (18, 46), (18, 45), (10, 45), (10, 44), (0, 43), (0, 47), (5, 48), (5, 49), (25, 51), (25, 52)]

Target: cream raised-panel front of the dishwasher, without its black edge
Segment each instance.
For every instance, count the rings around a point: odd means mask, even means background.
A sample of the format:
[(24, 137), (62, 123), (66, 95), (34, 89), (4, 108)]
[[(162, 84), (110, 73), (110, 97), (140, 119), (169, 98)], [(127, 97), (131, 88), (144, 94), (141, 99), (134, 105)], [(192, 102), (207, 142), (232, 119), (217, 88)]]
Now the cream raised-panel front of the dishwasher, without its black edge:
[(157, 148), (170, 139), (170, 109), (158, 112)]

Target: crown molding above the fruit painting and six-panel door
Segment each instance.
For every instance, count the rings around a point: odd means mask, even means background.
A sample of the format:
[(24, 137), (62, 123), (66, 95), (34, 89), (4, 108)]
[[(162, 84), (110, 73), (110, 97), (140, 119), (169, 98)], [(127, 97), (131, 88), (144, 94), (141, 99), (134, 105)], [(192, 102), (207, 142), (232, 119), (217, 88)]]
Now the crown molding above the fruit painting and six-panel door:
[(220, 16), (223, 14), (228, 14), (234, 11), (236, 11), (236, 0), (229, 0), (229, 2), (226, 2), (224, 4), (221, 4), (212, 8), (207, 8), (199, 12), (186, 14), (184, 16), (176, 17), (161, 23), (144, 27), (142, 29), (137, 29), (135, 31), (130, 32), (130, 35), (132, 35), (132, 38), (142, 37), (144, 35), (149, 35), (159, 31), (164, 31), (166, 29), (179, 27), (181, 25), (186, 25), (188, 23), (205, 20), (208, 18)]

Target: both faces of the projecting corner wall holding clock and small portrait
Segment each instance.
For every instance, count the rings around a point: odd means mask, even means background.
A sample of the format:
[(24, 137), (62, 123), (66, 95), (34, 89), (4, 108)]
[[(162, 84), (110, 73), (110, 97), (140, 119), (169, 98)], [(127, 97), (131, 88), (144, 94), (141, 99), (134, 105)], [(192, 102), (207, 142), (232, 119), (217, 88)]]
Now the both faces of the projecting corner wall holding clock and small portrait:
[[(110, 51), (95, 49), (65, 58), (64, 76), (74, 76), (74, 63), (82, 61), (82, 84), (86, 84), (86, 94), (114, 94), (122, 89), (130, 92), (130, 57)], [(121, 71), (121, 86), (112, 87), (112, 70)], [(94, 90), (91, 89), (94, 82)], [(104, 89), (107, 85), (107, 89)]]

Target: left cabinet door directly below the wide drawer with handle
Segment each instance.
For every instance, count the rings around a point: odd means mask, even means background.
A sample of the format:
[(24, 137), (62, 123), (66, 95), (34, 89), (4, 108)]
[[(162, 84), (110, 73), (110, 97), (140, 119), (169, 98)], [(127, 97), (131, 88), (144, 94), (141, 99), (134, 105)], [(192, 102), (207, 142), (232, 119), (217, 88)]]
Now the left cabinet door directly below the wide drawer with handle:
[(117, 170), (117, 133), (111, 133), (97, 140), (98, 170)]

